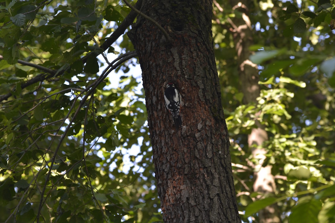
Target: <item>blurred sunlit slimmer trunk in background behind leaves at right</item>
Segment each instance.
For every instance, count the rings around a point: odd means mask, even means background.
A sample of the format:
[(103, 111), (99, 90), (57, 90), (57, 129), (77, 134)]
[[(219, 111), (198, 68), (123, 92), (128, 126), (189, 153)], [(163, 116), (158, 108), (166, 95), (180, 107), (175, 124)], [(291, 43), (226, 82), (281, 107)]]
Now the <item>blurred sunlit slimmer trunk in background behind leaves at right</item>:
[[(253, 45), (253, 31), (251, 21), (249, 18), (248, 4), (254, 4), (248, 0), (231, 0), (231, 7), (233, 10), (242, 12), (242, 18), (233, 18), (231, 23), (233, 31), (233, 39), (237, 52), (237, 63), (239, 64), (239, 78), (242, 85), (242, 92), (244, 94), (244, 103), (249, 104), (256, 102), (256, 98), (260, 95), (260, 87), (258, 84), (259, 75), (257, 65), (249, 60), (251, 52), (250, 46)], [(271, 173), (272, 166), (262, 166), (266, 156), (266, 149), (259, 146), (268, 139), (267, 133), (259, 122), (256, 121), (257, 128), (253, 128), (248, 135), (248, 145), (251, 149), (254, 160), (258, 163), (253, 167), (254, 172), (254, 185), (253, 190), (259, 192), (261, 195), (273, 194), (276, 190), (274, 176)], [(276, 204), (268, 206), (259, 211), (260, 223), (278, 223), (280, 221), (280, 212)]]

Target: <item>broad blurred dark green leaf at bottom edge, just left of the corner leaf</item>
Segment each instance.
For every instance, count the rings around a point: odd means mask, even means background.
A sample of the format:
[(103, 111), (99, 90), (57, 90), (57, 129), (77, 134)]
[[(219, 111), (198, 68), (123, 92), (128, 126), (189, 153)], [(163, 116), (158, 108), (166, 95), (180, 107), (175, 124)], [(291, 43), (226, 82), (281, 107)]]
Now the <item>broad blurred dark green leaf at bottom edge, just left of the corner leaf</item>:
[(293, 206), (289, 216), (290, 222), (319, 223), (318, 214), (322, 208), (320, 200), (311, 199)]

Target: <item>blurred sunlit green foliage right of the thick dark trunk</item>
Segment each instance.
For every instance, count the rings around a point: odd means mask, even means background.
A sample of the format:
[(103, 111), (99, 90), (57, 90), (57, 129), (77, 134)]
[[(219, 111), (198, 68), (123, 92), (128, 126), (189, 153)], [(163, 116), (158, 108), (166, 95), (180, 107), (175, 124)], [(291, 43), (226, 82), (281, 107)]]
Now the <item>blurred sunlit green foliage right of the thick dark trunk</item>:
[[(217, 1), (224, 4), (225, 1)], [(214, 4), (215, 6), (215, 4)], [(238, 64), (225, 31), (236, 12), (214, 7), (214, 44), (229, 136), (236, 191), (244, 222), (262, 208), (278, 204), (282, 222), (334, 222), (334, 19), (330, 1), (264, 1), (248, 5), (257, 45), (250, 57), (258, 64), (261, 94), (257, 103), (244, 104), (238, 83)], [(216, 20), (218, 21), (218, 20)], [(224, 24), (224, 25), (222, 25)], [(223, 34), (222, 34), (223, 33)], [(277, 191), (257, 200), (253, 192), (253, 159), (248, 134), (264, 126), (269, 139), (263, 166), (272, 166)]]

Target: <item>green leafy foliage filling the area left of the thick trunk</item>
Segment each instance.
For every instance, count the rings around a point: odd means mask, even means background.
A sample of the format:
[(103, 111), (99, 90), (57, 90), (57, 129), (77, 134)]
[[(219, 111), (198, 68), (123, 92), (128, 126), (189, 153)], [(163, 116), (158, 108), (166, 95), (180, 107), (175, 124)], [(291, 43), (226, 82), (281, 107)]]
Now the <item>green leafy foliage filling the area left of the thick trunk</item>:
[(128, 8), (7, 1), (1, 10), (0, 221), (160, 221), (143, 92), (132, 76), (122, 89), (107, 77), (131, 57), (98, 74), (107, 63), (98, 45)]

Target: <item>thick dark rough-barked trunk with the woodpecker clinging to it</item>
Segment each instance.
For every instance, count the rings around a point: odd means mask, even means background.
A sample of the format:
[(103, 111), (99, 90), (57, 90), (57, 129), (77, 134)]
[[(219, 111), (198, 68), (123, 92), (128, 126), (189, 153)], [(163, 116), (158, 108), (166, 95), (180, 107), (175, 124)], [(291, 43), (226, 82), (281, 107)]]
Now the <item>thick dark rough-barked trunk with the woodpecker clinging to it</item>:
[[(164, 222), (241, 222), (213, 52), (212, 1), (144, 0), (129, 37), (138, 53)], [(164, 106), (165, 85), (183, 97), (182, 129)]]

